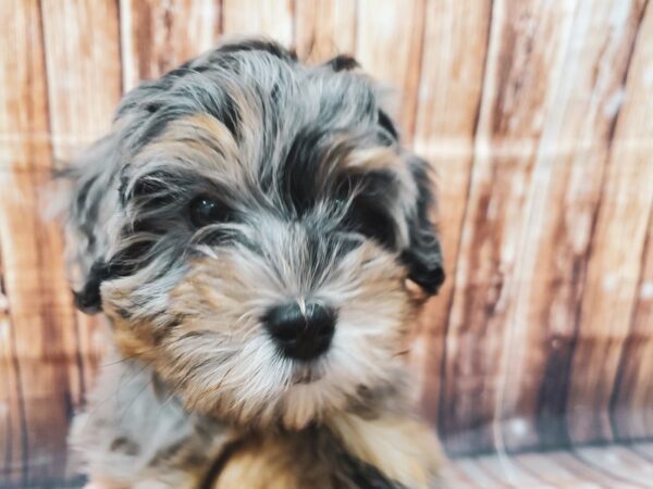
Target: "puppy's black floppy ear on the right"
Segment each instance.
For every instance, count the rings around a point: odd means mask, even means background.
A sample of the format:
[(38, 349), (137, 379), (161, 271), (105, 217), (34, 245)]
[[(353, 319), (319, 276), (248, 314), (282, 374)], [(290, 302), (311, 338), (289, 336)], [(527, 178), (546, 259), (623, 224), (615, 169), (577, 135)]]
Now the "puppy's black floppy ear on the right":
[(438, 230), (429, 216), (434, 205), (433, 190), (427, 163), (410, 156), (408, 164), (416, 183), (417, 202), (415, 212), (408, 217), (409, 243), (402, 252), (402, 261), (408, 268), (408, 278), (426, 293), (434, 296), (444, 283), (445, 274)]

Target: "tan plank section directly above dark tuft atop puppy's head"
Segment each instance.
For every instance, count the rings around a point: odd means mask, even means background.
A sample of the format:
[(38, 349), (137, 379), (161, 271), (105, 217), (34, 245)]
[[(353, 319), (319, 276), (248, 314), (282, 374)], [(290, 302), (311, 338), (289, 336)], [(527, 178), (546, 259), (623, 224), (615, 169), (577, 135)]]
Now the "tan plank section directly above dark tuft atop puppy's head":
[(295, 3), (295, 49), (300, 60), (320, 63), (356, 50), (356, 2), (317, 0)]

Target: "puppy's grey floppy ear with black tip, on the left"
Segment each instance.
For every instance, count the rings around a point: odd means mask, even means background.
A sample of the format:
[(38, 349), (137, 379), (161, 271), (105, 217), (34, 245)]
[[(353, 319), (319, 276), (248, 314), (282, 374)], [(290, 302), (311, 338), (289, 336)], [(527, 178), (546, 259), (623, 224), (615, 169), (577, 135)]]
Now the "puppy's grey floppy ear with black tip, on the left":
[(104, 256), (110, 247), (111, 210), (119, 209), (114, 140), (113, 134), (100, 139), (58, 175), (69, 279), (75, 305), (86, 313), (101, 310), (100, 285), (109, 273)]

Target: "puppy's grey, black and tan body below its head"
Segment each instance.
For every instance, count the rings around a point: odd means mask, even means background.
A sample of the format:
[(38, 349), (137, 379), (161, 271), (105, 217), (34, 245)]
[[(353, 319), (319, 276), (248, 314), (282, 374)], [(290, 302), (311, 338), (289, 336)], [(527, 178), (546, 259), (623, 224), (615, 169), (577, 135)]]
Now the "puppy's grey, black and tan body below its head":
[(438, 441), (399, 405), (337, 413), (301, 430), (244, 431), (189, 415), (136, 361), (109, 362), (99, 386), (75, 417), (71, 443), (101, 487), (438, 487)]

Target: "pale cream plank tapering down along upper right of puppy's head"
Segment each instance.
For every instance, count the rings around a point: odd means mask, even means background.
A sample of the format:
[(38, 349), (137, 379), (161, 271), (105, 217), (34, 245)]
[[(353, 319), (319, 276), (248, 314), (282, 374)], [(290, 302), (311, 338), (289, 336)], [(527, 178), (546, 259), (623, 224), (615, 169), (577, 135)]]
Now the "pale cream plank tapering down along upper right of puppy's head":
[(360, 0), (356, 57), (364, 70), (398, 90), (404, 140), (415, 131), (426, 23), (426, 0)]

